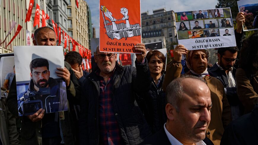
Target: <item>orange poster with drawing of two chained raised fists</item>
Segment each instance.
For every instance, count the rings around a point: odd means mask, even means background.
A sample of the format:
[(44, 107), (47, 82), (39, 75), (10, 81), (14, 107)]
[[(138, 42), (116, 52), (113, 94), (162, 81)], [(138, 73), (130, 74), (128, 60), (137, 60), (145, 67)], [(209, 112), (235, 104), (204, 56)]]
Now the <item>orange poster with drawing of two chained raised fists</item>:
[(137, 53), (141, 43), (140, 0), (99, 1), (99, 48), (101, 52)]

